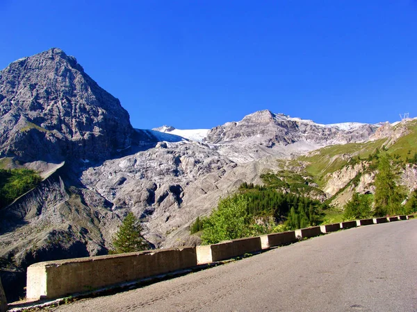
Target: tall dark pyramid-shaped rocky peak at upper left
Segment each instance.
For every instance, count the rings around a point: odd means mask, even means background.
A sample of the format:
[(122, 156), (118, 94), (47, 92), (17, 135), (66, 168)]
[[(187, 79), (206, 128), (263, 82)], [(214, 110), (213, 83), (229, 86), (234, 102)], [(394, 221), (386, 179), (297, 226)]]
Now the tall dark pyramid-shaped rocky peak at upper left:
[(131, 145), (132, 137), (119, 100), (62, 50), (22, 58), (0, 71), (2, 157), (98, 159)]

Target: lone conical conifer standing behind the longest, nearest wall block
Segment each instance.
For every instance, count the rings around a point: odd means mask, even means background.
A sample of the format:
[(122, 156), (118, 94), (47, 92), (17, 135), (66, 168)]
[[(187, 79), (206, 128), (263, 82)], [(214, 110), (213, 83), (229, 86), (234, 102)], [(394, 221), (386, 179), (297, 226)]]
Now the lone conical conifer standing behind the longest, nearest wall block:
[(129, 212), (115, 234), (112, 253), (137, 252), (148, 248), (147, 241), (142, 236), (142, 225), (133, 213)]

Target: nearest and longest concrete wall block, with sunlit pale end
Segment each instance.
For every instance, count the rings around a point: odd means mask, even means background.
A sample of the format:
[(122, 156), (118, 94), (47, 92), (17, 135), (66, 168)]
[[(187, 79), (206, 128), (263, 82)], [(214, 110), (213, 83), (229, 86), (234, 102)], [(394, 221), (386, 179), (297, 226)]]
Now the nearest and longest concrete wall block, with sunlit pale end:
[(63, 297), (193, 266), (197, 266), (195, 248), (40, 262), (28, 267), (26, 297)]

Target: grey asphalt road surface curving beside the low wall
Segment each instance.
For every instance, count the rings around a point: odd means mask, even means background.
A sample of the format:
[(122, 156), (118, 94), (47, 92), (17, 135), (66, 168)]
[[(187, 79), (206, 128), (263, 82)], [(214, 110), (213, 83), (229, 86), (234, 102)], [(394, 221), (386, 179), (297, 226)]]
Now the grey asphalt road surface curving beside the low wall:
[(327, 234), (54, 311), (417, 311), (417, 220)]

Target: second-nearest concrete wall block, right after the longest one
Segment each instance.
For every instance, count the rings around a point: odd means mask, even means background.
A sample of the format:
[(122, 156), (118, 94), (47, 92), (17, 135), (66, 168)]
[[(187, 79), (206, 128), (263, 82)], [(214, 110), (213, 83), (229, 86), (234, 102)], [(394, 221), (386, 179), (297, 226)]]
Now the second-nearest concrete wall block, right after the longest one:
[(204, 264), (226, 260), (261, 250), (262, 243), (260, 236), (234, 239), (233, 241), (224, 241), (213, 245), (197, 246), (197, 263)]

